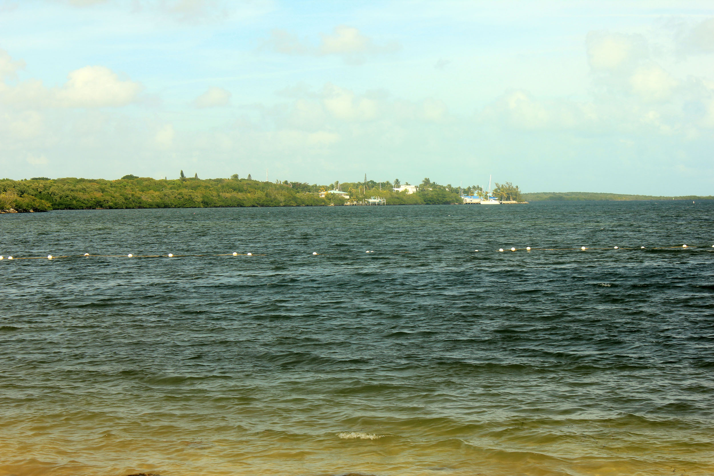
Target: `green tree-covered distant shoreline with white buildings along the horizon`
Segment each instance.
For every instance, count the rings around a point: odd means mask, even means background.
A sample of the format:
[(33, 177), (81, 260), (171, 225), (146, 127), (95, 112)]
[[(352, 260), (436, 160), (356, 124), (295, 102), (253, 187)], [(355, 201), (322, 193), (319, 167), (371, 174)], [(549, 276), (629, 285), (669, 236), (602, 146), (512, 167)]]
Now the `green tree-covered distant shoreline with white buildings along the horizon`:
[[(395, 185), (398, 181), (395, 181)], [(329, 190), (329, 187), (343, 188)], [(412, 190), (413, 189), (413, 190)], [(96, 210), (131, 208), (243, 208), (276, 206), (343, 206), (379, 198), (385, 205), (449, 205), (462, 203), (461, 188), (441, 186), (428, 178), (417, 187), (398, 191), (389, 182), (365, 181), (318, 186), (301, 182), (261, 182), (251, 178), (180, 178), (155, 180), (126, 176), (107, 181), (86, 178), (0, 179), (0, 213), (50, 210)], [(464, 195), (483, 196), (478, 186), (463, 189)], [(344, 190), (341, 191), (341, 190)], [(676, 201), (714, 200), (714, 196), (649, 196), (622, 193), (538, 192), (522, 193), (510, 182), (496, 183), (494, 195), (503, 203), (537, 201)]]

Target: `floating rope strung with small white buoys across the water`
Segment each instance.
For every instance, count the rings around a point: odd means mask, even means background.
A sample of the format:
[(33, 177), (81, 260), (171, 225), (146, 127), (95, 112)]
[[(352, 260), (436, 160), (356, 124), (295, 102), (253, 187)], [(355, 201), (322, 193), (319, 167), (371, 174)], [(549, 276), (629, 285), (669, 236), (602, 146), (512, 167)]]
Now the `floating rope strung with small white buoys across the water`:
[[(692, 246), (692, 245), (675, 245), (675, 246), (650, 246), (650, 247), (645, 247), (645, 246), (635, 246), (633, 248), (627, 248), (627, 247), (622, 247), (618, 245), (614, 245), (608, 248), (593, 248), (593, 247), (587, 247), (587, 246), (581, 246), (580, 248), (532, 248), (531, 246), (526, 246), (526, 248), (516, 248), (511, 247), (511, 248), (506, 248), (506, 250), (509, 251), (603, 251), (603, 250), (693, 250), (696, 248), (709, 248), (709, 245), (706, 246)], [(711, 245), (711, 248), (714, 248), (714, 245)], [(505, 250), (504, 248), (498, 248), (498, 250), (495, 250), (496, 253), (503, 253)], [(367, 250), (366, 253), (371, 254), (375, 253), (373, 250)], [(411, 254), (414, 253), (413, 251), (396, 251), (391, 254), (395, 255), (403, 255), (403, 254)], [(473, 250), (473, 253), (479, 253), (479, 250)], [(483, 253), (483, 251), (481, 251)], [(317, 251), (313, 251), (312, 253), (309, 253), (308, 255), (311, 256), (333, 256), (333, 255), (326, 255), (323, 253), (318, 253)], [(0, 255), (0, 261), (5, 261), (5, 260), (56, 260), (59, 258), (204, 258), (204, 257), (216, 257), (216, 256), (268, 256), (268, 253), (237, 253), (236, 251), (233, 251), (233, 253), (216, 253), (216, 254), (209, 254), (209, 253), (204, 253), (204, 254), (187, 254), (187, 255), (175, 255), (174, 253), (167, 253), (165, 255), (134, 255), (133, 253), (129, 253), (126, 255), (92, 255), (90, 253), (84, 253), (81, 255), (46, 255), (46, 256), (27, 256), (24, 258), (17, 258), (14, 256), (7, 256), (5, 257), (4, 255)]]

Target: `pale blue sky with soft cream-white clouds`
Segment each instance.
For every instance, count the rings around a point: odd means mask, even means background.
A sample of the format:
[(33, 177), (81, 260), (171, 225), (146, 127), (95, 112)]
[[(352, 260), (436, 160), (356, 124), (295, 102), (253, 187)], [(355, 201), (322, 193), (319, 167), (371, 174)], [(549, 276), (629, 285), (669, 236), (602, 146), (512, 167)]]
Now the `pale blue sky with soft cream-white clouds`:
[(0, 177), (714, 194), (708, 1), (0, 0)]

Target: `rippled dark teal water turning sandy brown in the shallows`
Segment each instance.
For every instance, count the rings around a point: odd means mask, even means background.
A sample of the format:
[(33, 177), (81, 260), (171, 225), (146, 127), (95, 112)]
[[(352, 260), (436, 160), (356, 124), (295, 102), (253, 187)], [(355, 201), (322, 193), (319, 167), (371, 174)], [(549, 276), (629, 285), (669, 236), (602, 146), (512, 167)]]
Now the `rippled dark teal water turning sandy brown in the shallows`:
[(0, 475), (711, 475), (713, 244), (713, 202), (3, 215), (69, 258), (0, 260)]

